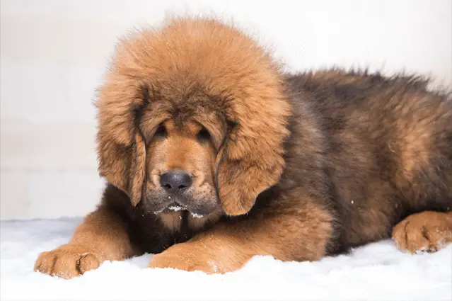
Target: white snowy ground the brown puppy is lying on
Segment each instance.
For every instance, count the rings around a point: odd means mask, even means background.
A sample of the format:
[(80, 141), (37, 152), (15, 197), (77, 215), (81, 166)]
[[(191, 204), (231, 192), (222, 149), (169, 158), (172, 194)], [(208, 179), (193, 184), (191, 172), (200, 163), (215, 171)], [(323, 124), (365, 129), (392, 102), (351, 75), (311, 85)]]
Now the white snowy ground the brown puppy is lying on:
[(318, 262), (255, 256), (206, 275), (146, 268), (150, 254), (64, 280), (33, 272), (37, 255), (69, 241), (79, 218), (1, 220), (1, 300), (452, 300), (452, 245), (403, 254), (386, 240)]

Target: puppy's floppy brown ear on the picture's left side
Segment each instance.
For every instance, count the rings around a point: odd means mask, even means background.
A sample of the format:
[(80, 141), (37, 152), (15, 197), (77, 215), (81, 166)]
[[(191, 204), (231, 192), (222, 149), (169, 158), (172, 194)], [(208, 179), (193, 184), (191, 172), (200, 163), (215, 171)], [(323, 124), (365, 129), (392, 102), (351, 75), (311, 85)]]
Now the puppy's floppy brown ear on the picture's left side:
[[(98, 90), (98, 170), (108, 183), (127, 193), (135, 206), (146, 177), (146, 142), (137, 125), (145, 99), (140, 92), (131, 98), (122, 88), (105, 85)], [(132, 89), (142, 90), (134, 86), (129, 91)]]

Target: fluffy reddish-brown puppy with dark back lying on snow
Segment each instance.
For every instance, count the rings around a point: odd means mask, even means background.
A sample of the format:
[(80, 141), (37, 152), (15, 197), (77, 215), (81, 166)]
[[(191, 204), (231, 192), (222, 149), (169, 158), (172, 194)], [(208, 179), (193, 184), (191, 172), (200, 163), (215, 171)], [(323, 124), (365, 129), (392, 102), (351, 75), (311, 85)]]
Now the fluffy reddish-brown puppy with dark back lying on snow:
[(99, 90), (103, 200), (35, 269), (71, 278), (149, 252), (150, 267), (225, 273), (391, 234), (436, 251), (452, 240), (452, 99), (427, 84), (284, 74), (211, 19), (134, 33)]

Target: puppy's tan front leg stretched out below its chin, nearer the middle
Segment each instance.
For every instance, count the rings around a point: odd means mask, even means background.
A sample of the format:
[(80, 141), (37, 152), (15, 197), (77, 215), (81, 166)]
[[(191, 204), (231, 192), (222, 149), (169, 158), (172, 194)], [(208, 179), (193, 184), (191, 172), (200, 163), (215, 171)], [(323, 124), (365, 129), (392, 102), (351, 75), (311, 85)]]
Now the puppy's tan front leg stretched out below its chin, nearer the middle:
[(255, 255), (282, 261), (318, 260), (325, 256), (332, 234), (332, 215), (315, 203), (304, 203), (302, 209), (271, 217), (219, 224), (154, 255), (149, 267), (226, 273), (241, 268)]

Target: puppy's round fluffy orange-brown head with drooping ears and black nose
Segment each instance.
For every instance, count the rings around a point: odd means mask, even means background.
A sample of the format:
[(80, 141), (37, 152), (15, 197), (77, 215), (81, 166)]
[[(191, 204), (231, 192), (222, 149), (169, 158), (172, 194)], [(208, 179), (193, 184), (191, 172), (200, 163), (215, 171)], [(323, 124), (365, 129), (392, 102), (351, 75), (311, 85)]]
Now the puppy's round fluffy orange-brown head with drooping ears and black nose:
[(231, 26), (180, 18), (136, 32), (98, 92), (100, 174), (133, 205), (241, 215), (279, 181), (291, 112), (281, 72)]

